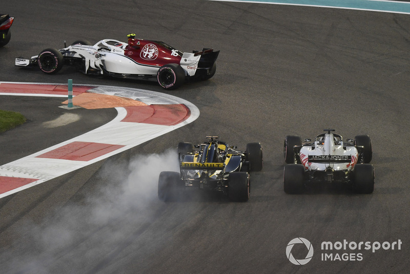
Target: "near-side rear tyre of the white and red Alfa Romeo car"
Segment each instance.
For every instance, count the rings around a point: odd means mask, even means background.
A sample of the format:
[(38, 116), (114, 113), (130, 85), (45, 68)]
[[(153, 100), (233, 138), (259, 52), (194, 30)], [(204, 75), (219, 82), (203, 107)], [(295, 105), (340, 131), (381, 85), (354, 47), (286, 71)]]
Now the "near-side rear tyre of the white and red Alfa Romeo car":
[(158, 69), (157, 81), (165, 89), (176, 89), (185, 82), (185, 70), (178, 64), (163, 65)]

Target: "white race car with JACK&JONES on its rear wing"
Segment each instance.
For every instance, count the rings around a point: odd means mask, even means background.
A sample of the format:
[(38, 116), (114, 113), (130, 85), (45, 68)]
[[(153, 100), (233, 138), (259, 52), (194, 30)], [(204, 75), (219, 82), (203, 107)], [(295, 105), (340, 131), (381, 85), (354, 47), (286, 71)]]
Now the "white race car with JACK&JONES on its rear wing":
[(368, 135), (357, 135), (346, 142), (334, 129), (316, 139), (288, 135), (284, 141), (283, 188), (286, 193), (301, 193), (309, 183), (347, 183), (357, 193), (374, 190), (372, 141)]

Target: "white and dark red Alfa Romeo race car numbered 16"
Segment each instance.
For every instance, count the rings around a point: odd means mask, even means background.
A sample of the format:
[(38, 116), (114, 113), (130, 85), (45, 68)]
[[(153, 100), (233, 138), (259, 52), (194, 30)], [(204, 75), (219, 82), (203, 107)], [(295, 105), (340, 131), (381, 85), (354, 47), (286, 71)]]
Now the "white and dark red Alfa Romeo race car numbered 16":
[(16, 58), (15, 65), (37, 66), (53, 74), (68, 64), (86, 74), (156, 80), (165, 89), (175, 89), (187, 79), (210, 79), (216, 71), (218, 54), (219, 51), (208, 48), (181, 52), (166, 43), (137, 39), (135, 34), (129, 34), (128, 43), (113, 39), (95, 45), (75, 41), (64, 49), (45, 49), (30, 59)]

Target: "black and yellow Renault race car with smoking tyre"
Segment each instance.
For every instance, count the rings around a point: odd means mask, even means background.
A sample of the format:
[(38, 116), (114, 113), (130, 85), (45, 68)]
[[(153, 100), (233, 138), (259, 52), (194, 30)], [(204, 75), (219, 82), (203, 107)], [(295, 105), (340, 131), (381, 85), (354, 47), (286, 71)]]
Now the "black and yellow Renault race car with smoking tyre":
[(207, 136), (208, 141), (193, 146), (180, 142), (177, 147), (180, 172), (162, 171), (158, 179), (158, 198), (175, 201), (189, 189), (220, 191), (231, 201), (246, 202), (250, 194), (250, 172), (263, 167), (262, 146), (249, 143), (237, 150)]

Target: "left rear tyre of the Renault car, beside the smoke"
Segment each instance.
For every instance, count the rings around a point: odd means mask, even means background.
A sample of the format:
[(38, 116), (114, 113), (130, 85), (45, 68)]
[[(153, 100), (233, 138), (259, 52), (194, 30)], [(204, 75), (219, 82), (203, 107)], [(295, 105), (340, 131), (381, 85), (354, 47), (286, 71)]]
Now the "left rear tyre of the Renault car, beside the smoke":
[(182, 194), (183, 181), (178, 172), (162, 171), (158, 179), (158, 198), (164, 202), (175, 202)]

